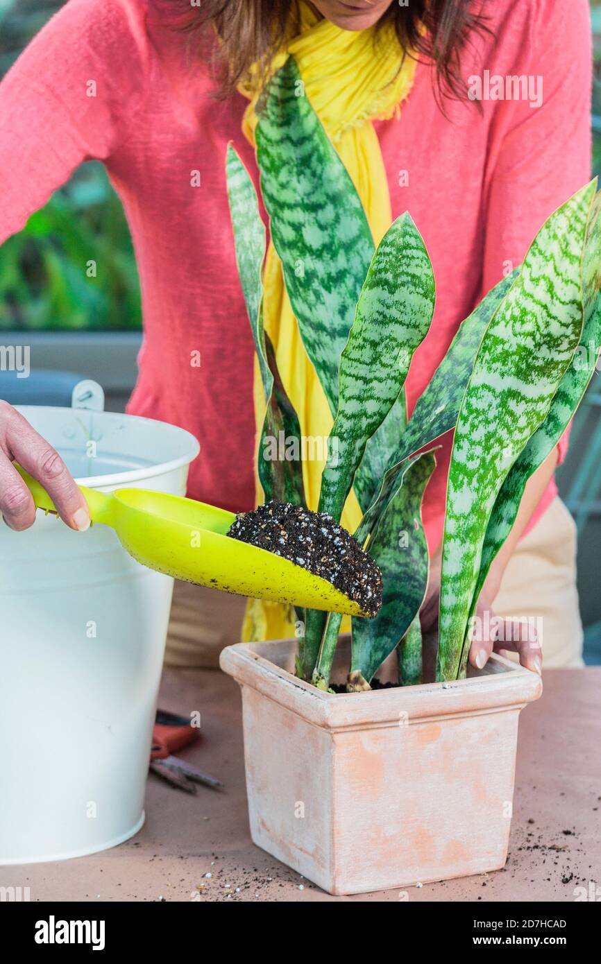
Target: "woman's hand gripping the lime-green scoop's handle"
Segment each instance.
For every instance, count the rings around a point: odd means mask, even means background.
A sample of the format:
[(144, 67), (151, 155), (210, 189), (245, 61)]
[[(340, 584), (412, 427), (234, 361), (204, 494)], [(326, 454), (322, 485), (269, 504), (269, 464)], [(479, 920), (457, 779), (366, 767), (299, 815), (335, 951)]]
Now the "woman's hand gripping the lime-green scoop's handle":
[(89, 528), (88, 504), (59, 453), (12, 405), (0, 400), (0, 513), (20, 532), (33, 525), (36, 506), (13, 462), (38, 479), (69, 528)]

